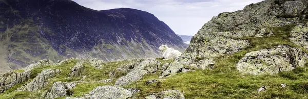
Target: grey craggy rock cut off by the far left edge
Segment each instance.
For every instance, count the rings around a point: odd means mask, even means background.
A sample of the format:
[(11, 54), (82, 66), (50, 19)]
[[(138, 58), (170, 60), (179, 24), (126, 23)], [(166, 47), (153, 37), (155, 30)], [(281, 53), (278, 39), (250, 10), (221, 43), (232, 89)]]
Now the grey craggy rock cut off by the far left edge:
[(22, 73), (9, 71), (0, 76), (0, 93), (13, 87), (15, 84), (22, 83), (30, 79), (31, 70)]

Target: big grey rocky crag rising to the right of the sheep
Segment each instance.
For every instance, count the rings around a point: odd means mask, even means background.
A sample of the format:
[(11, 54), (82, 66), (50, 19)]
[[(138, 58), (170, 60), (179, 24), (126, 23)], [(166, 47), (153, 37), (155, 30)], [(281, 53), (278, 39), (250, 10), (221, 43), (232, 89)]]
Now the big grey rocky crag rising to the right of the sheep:
[(266, 0), (243, 10), (220, 13), (204, 24), (177, 61), (197, 64), (200, 60), (239, 52), (249, 45), (247, 40), (239, 38), (271, 36), (269, 27), (300, 23), (308, 18), (307, 5), (302, 0)]

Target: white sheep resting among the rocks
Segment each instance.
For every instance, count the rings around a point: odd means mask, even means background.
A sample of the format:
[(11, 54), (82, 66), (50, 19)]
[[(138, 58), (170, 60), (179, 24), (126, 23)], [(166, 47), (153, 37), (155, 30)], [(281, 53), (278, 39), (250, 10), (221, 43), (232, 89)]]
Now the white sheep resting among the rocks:
[(167, 45), (161, 45), (159, 47), (159, 50), (163, 52), (164, 60), (177, 59), (182, 54), (181, 52), (175, 50), (174, 48), (169, 48)]

